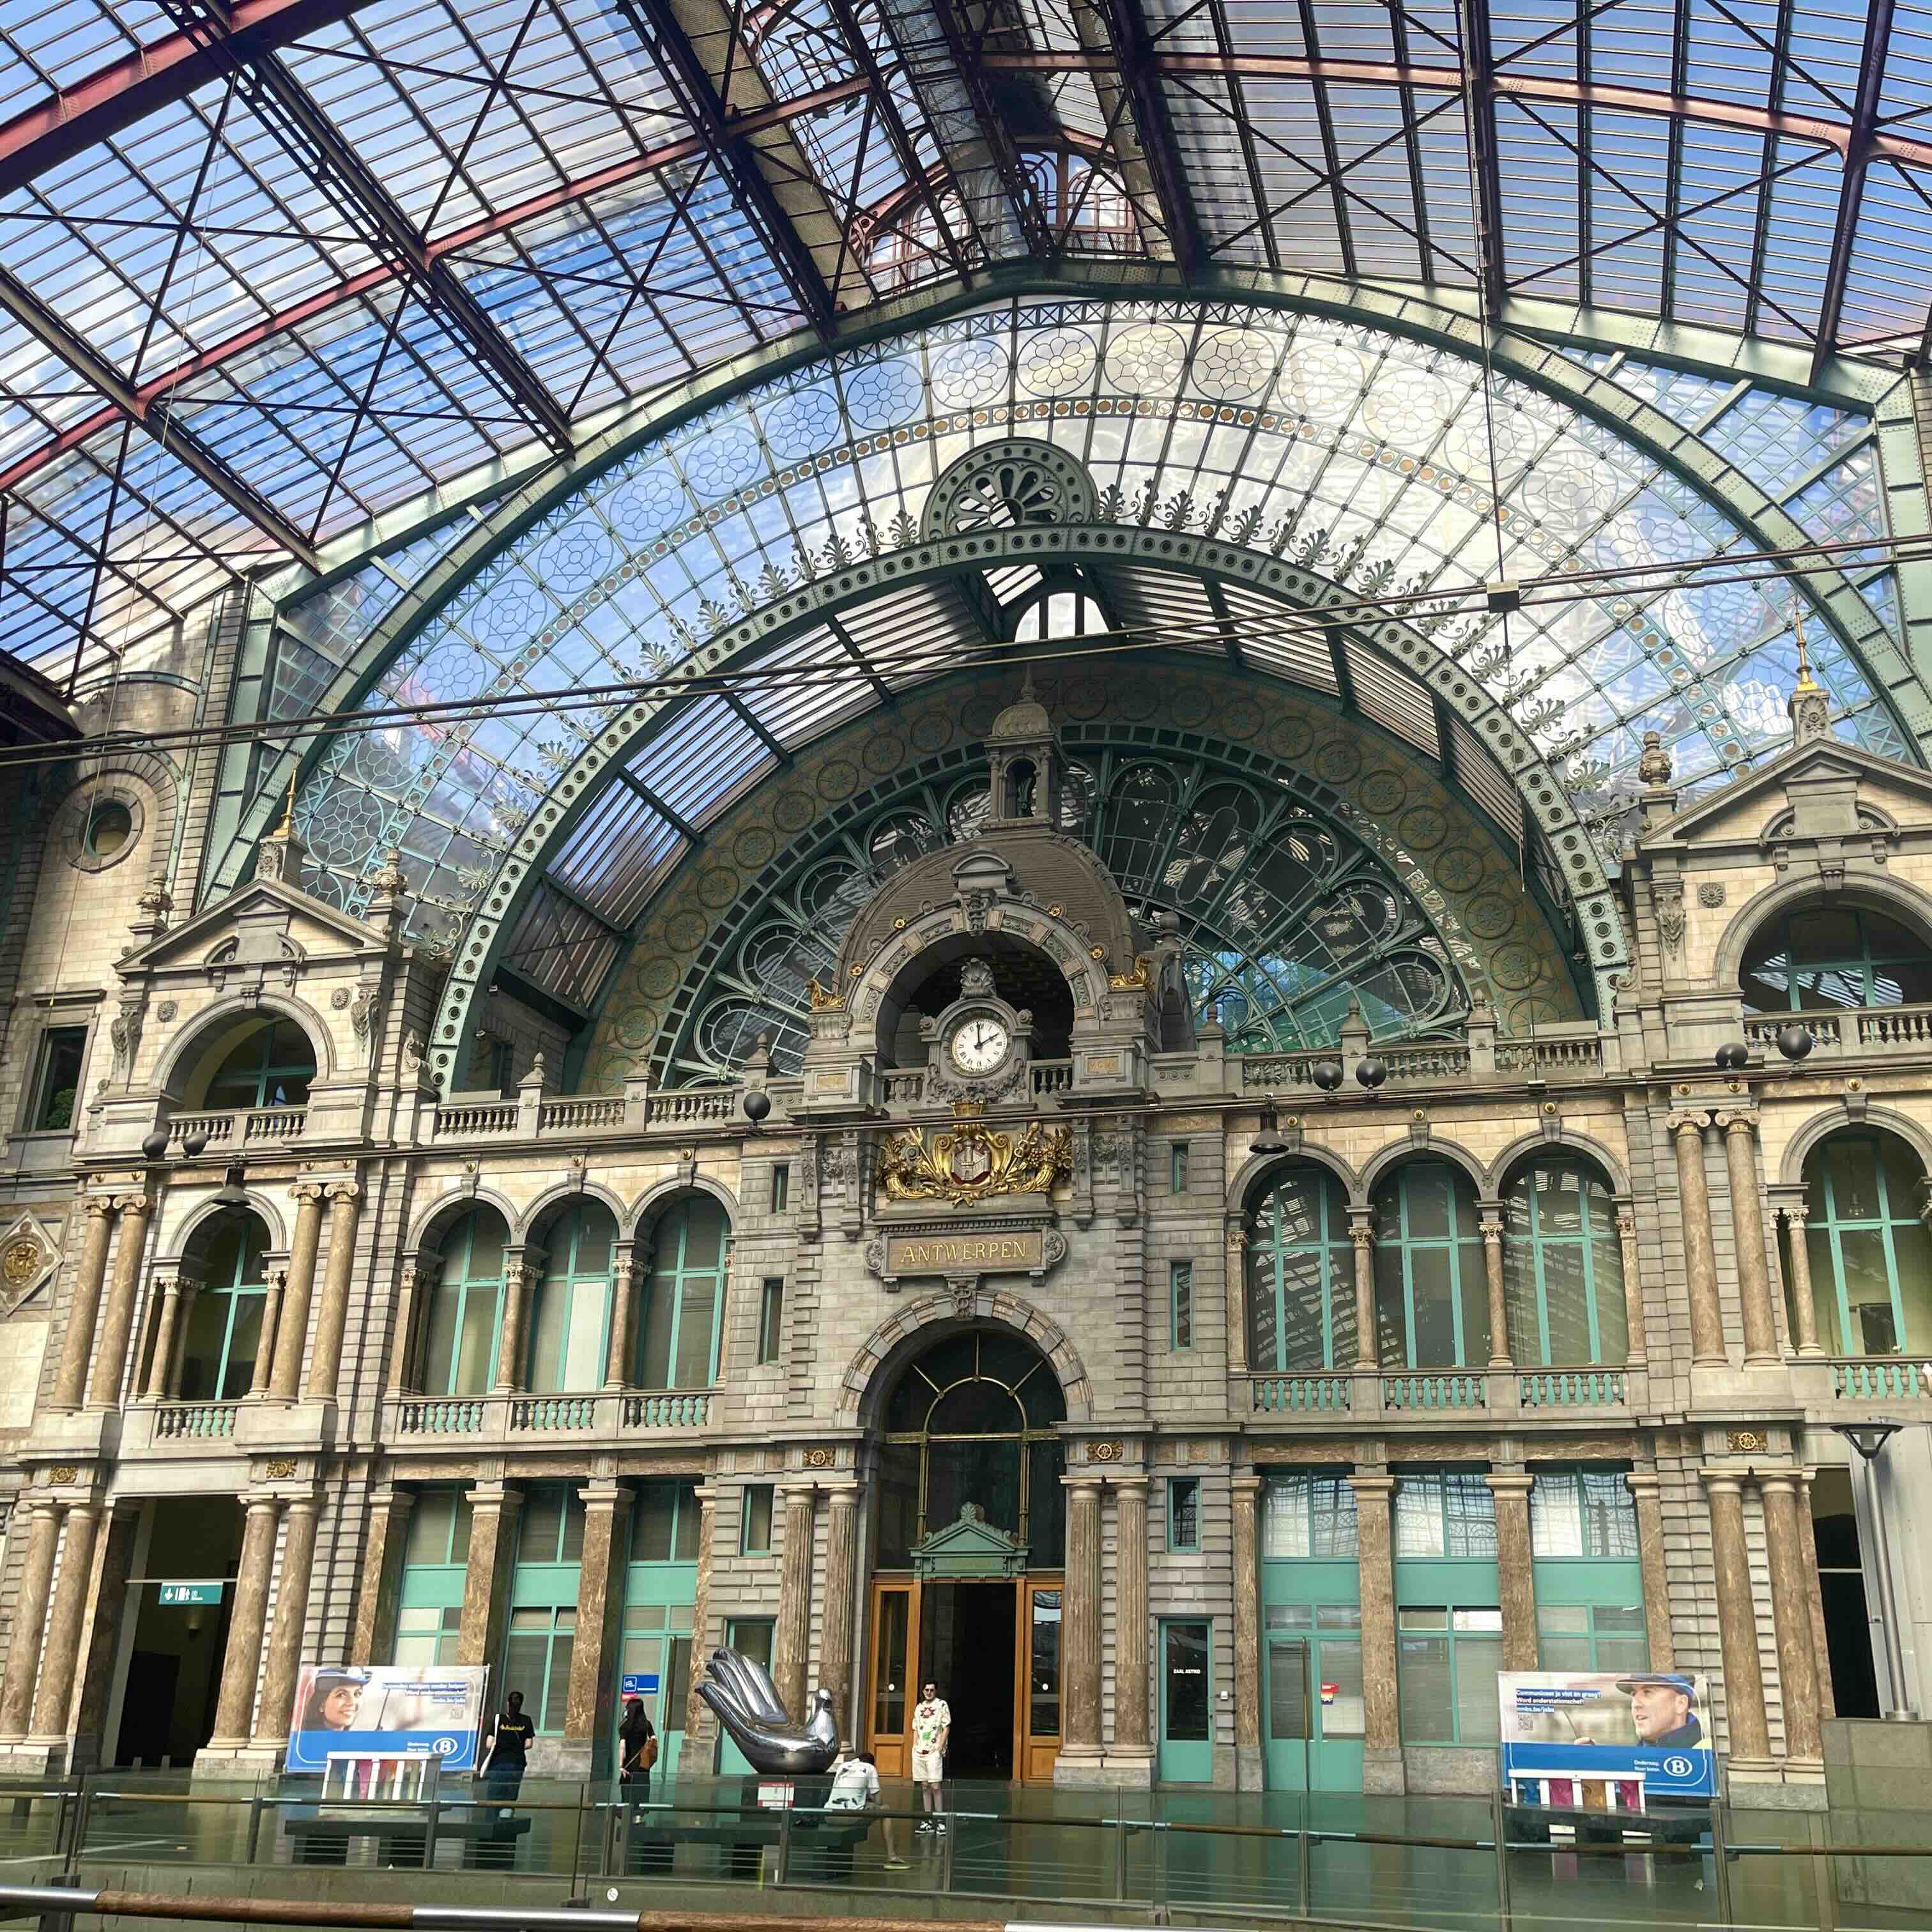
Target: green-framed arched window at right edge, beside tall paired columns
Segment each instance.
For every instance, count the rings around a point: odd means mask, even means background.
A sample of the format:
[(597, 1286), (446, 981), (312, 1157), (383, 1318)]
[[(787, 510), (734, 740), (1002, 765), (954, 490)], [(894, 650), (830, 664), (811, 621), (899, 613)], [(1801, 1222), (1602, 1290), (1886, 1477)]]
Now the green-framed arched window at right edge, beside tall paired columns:
[(1804, 1182), (1818, 1339), (1832, 1354), (1932, 1349), (1932, 1233), (1918, 1219), (1924, 1167), (1913, 1150), (1876, 1128), (1833, 1134), (1812, 1150)]

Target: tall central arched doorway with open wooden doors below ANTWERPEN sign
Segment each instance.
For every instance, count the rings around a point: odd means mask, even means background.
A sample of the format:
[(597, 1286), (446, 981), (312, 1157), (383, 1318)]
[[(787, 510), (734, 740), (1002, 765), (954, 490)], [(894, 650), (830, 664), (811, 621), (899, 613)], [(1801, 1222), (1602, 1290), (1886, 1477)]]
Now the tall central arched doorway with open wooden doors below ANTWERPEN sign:
[(877, 1418), (866, 1741), (912, 1768), (920, 1685), (952, 1706), (947, 1774), (1051, 1783), (1061, 1748), (1066, 1397), (1001, 1327), (914, 1356)]

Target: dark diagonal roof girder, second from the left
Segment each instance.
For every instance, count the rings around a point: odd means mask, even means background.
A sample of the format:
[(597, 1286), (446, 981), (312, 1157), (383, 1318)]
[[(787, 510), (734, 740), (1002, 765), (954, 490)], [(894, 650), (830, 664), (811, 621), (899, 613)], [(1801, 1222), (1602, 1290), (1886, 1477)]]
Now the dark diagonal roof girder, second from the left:
[(317, 170), (325, 189), (346, 201), (359, 216), (379, 255), (394, 261), (415, 284), (425, 303), (464, 338), (477, 361), (491, 371), (510, 400), (535, 423), (554, 450), (572, 446), (570, 417), (543, 386), (535, 371), (510, 346), (489, 311), (469, 294), (462, 278), (440, 263), (427, 240), (415, 232), (388, 189), (369, 172), (355, 149), (342, 139), (334, 122), (309, 99), (307, 89), (267, 48), (255, 48), (230, 33), (224, 0), (162, 0), (180, 29), (201, 35), (226, 71), (236, 73), (257, 116), (274, 126), (294, 158)]

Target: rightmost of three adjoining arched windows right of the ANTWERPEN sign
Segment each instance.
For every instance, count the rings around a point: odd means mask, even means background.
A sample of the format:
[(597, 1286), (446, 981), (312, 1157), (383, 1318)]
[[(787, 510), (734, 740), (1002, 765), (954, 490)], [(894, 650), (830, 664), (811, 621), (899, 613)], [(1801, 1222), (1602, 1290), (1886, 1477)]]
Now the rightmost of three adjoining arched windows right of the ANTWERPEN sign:
[(1617, 1209), (1584, 1161), (1538, 1159), (1503, 1192), (1503, 1306), (1517, 1364), (1629, 1356)]

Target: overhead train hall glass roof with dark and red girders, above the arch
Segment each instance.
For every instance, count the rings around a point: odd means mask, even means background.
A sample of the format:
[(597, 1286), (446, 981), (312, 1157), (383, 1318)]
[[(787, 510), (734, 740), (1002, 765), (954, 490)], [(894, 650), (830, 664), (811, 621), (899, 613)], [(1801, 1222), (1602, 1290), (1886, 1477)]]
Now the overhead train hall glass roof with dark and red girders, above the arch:
[(1932, 0), (966, 21), (0, 0), (10, 647), (141, 665), (265, 564), (1016, 257), (1582, 303), (1814, 373), (1926, 336)]

